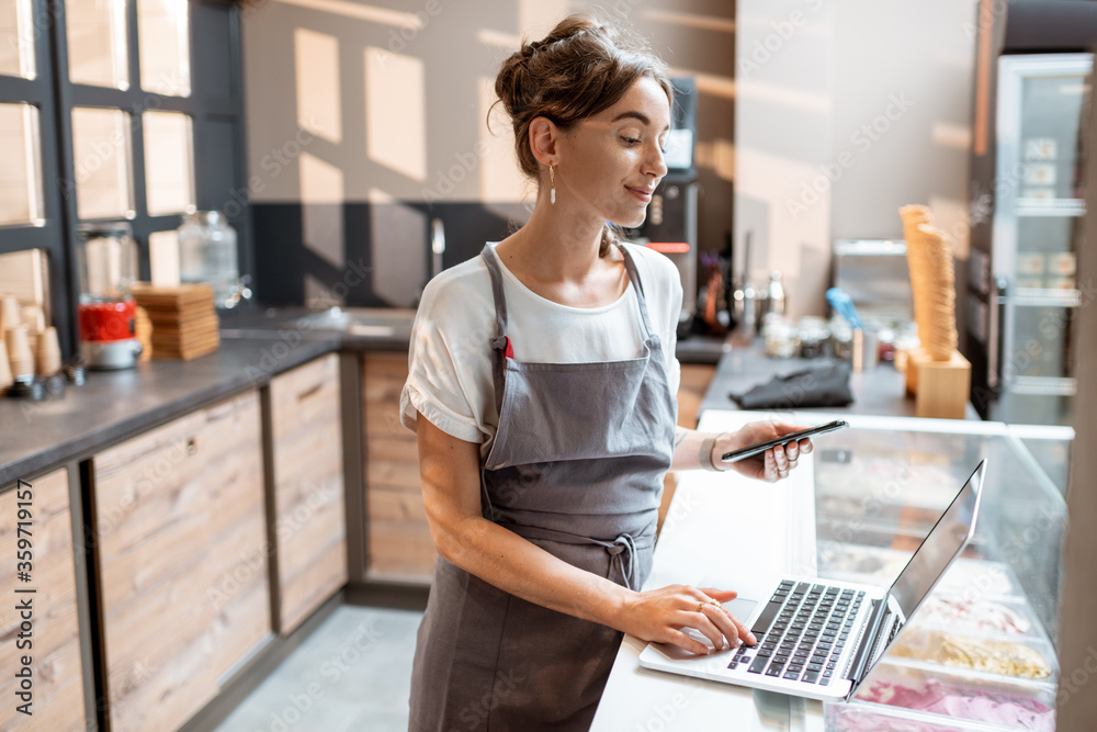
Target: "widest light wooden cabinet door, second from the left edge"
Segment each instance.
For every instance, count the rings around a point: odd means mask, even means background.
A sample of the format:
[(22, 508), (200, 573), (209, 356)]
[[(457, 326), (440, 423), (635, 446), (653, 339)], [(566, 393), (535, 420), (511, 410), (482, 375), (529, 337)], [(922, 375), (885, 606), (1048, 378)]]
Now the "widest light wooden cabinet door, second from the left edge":
[(259, 395), (94, 457), (111, 729), (173, 730), (271, 631)]

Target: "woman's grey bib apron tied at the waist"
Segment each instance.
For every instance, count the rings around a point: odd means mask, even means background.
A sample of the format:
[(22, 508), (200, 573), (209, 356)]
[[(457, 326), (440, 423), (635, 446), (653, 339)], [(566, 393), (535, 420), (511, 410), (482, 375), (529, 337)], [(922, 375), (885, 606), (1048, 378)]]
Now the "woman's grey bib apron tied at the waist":
[[(508, 356), (502, 273), (484, 248), (499, 426), (480, 486), (488, 520), (636, 589), (652, 566), (677, 401), (636, 267), (621, 251), (643, 325), (641, 356), (522, 363)], [(586, 730), (620, 642), (612, 628), (528, 603), (439, 559), (416, 644), (410, 729)]]

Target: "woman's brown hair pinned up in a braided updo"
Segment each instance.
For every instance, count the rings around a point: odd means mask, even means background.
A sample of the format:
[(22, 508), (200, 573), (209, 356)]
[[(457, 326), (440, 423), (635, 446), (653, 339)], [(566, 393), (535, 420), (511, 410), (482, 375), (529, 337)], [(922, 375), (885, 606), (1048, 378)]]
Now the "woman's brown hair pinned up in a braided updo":
[[(672, 106), (669, 68), (644, 38), (620, 25), (568, 15), (543, 40), (525, 41), (495, 79), (495, 93), (514, 126), (522, 172), (540, 181), (541, 165), (530, 148), (530, 123), (535, 117), (567, 129), (615, 104), (643, 76), (663, 87)], [(600, 254), (606, 254), (612, 237), (603, 229)]]

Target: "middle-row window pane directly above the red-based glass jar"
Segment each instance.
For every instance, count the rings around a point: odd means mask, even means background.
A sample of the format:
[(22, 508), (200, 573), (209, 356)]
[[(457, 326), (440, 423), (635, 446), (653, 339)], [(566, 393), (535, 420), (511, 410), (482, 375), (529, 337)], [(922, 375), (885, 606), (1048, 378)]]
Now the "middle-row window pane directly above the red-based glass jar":
[(72, 110), (76, 207), (80, 218), (133, 218), (129, 115), (122, 110)]

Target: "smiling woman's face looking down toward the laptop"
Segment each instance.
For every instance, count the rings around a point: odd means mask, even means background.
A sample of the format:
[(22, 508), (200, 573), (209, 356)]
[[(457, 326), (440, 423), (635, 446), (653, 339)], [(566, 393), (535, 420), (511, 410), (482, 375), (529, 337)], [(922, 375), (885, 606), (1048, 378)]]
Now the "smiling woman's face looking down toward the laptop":
[(659, 83), (641, 77), (615, 104), (576, 123), (559, 139), (556, 195), (621, 226), (640, 226), (667, 173), (663, 147), (670, 103)]

